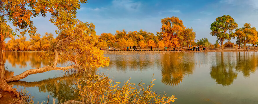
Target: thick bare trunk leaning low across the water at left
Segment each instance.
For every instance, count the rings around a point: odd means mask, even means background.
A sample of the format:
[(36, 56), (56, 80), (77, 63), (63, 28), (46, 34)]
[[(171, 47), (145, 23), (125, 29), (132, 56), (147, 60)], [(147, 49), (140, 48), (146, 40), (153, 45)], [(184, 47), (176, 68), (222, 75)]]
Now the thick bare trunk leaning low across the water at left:
[(27, 77), (28, 75), (32, 74), (37, 74), (37, 73), (44, 73), (50, 70), (69, 70), (75, 68), (75, 66), (66, 66), (66, 67), (52, 67), (52, 66), (45, 66), (43, 68), (36, 68), (36, 69), (30, 69), (26, 70), (25, 72), (21, 73), (20, 75), (12, 76), (6, 79), (6, 82), (11, 82), (11, 81), (18, 81), (20, 79), (23, 79)]

